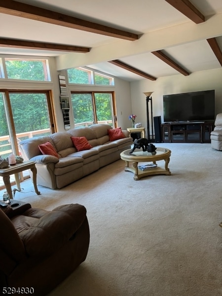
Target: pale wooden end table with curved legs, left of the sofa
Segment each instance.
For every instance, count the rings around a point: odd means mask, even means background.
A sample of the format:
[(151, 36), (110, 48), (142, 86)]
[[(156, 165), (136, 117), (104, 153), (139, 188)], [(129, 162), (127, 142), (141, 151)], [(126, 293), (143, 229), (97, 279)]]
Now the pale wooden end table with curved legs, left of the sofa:
[(0, 169), (0, 176), (3, 179), (5, 188), (10, 196), (10, 199), (13, 199), (11, 184), (10, 184), (10, 175), (15, 175), (16, 185), (18, 187), (18, 190), (21, 191), (20, 182), (19, 182), (19, 173), (22, 171), (26, 171), (28, 169), (30, 169), (33, 173), (33, 185), (36, 193), (39, 195), (40, 192), (38, 191), (38, 188), (37, 188), (37, 168), (36, 168), (35, 161), (24, 161), (22, 163), (16, 163), (13, 166), (8, 166), (4, 169)]

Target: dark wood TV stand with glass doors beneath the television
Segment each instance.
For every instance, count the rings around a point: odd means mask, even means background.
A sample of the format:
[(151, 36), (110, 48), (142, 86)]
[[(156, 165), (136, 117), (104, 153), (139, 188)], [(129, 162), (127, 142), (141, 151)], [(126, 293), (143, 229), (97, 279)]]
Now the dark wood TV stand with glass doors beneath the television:
[(214, 121), (172, 121), (161, 124), (163, 143), (210, 143)]

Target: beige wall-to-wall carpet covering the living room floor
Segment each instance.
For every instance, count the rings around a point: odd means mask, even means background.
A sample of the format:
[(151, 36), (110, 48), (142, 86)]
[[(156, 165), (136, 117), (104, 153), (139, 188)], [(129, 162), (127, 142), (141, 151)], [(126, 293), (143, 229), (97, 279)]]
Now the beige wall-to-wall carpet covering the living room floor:
[(119, 160), (39, 196), (22, 183), (15, 199), (33, 207), (87, 209), (87, 259), (50, 296), (222, 296), (222, 151), (155, 146), (172, 150), (172, 176), (134, 181)]

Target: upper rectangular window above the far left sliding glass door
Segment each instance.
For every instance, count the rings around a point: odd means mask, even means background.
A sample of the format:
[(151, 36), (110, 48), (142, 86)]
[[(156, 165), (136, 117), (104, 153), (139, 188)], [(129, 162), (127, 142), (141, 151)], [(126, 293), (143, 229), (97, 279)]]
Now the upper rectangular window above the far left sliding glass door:
[(51, 81), (48, 60), (5, 58), (4, 62), (8, 79)]

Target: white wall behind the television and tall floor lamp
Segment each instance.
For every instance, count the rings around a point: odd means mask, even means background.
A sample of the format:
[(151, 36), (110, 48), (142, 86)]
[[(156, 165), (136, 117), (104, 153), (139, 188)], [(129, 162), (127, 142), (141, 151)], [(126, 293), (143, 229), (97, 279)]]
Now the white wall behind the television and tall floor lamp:
[(195, 72), (189, 76), (179, 74), (161, 77), (155, 81), (143, 79), (131, 82), (132, 112), (137, 115), (136, 122), (141, 122), (144, 127), (147, 127), (146, 96), (143, 94), (144, 92), (153, 91), (153, 116), (160, 115), (163, 122), (163, 95), (210, 89), (215, 89), (216, 116), (222, 112), (222, 68)]

